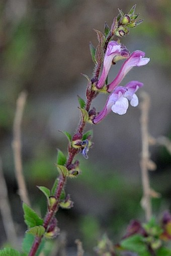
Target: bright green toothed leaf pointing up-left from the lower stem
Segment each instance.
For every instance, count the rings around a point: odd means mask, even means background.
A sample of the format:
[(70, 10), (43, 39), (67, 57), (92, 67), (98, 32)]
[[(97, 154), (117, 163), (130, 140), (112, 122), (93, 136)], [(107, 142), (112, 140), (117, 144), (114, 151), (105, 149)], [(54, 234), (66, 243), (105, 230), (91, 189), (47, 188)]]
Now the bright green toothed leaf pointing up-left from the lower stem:
[(43, 225), (43, 219), (39, 217), (39, 215), (30, 208), (27, 204), (23, 203), (24, 210), (24, 221), (29, 228), (34, 226)]

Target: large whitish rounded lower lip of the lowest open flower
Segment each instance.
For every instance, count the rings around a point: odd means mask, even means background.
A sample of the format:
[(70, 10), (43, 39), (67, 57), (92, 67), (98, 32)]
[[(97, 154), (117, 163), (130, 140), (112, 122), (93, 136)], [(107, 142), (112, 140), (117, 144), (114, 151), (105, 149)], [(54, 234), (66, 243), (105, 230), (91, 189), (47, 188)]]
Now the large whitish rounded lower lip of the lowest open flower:
[(121, 96), (112, 106), (112, 111), (119, 115), (124, 115), (128, 109), (128, 100)]

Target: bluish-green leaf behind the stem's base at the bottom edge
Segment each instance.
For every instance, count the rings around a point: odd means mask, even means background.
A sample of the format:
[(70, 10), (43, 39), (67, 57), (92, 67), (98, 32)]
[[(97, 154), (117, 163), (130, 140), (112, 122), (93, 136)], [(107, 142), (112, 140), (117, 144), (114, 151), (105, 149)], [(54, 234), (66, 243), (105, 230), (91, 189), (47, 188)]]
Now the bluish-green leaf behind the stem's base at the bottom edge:
[[(34, 235), (29, 234), (29, 233), (25, 234), (25, 237), (24, 237), (24, 240), (23, 240), (23, 243), (22, 243), (22, 249), (23, 249), (24, 252), (27, 253), (27, 255), (30, 252), (30, 249), (32, 247), (34, 239), (35, 239)], [(44, 244), (45, 244), (45, 241), (44, 241), (44, 239), (42, 239), (35, 256), (38, 256), (40, 254), (40, 252), (42, 251), (42, 249), (44, 247)]]

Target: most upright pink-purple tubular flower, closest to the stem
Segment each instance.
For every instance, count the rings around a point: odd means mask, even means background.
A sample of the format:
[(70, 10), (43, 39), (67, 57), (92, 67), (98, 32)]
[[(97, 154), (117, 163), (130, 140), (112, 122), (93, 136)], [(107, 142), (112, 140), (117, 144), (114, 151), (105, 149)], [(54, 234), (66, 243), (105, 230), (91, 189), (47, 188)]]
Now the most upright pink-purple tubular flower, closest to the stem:
[(103, 71), (97, 84), (98, 89), (104, 86), (105, 80), (108, 76), (109, 70), (112, 65), (112, 60), (116, 55), (120, 54), (120, 52), (121, 52), (120, 44), (118, 44), (115, 41), (109, 42), (106, 53), (105, 53), (105, 57), (104, 57)]

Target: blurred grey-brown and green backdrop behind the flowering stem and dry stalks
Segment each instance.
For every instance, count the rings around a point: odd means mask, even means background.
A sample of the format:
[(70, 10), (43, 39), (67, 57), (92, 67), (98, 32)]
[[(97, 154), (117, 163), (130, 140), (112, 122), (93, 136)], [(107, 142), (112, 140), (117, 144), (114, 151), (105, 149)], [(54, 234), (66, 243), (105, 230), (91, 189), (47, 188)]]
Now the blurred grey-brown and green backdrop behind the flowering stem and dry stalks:
[[(152, 136), (171, 136), (170, 121), (170, 43), (171, 3), (169, 0), (1, 0), (0, 2), (0, 148), (3, 173), (17, 235), (26, 226), (14, 172), (12, 151), (13, 122), (18, 95), (28, 97), (22, 120), (23, 169), (31, 204), (42, 216), (45, 197), (36, 185), (51, 188), (57, 175), (54, 165), (57, 150), (66, 153), (67, 139), (59, 130), (73, 133), (79, 120), (77, 95), (85, 99), (87, 81), (80, 73), (92, 76), (94, 68), (89, 42), (97, 45), (96, 33), (103, 32), (105, 21), (111, 26), (118, 8), (136, 13), (144, 22), (122, 39), (130, 50), (145, 51), (148, 65), (134, 68), (122, 82), (139, 80), (150, 96), (149, 132)], [(112, 67), (111, 81), (122, 63)], [(106, 96), (92, 107), (100, 111)], [(74, 207), (57, 214), (67, 246), (80, 238), (87, 251), (106, 232), (118, 242), (131, 219), (144, 221), (140, 153), (140, 108), (129, 107), (126, 115), (111, 113), (94, 130), (94, 146), (89, 159), (81, 155), (82, 174), (68, 181), (66, 192)], [(150, 148), (157, 164), (150, 173), (151, 187), (161, 193), (153, 200), (157, 217), (170, 208), (171, 158), (164, 147)], [(7, 240), (0, 215), (0, 243)]]

